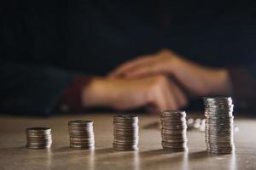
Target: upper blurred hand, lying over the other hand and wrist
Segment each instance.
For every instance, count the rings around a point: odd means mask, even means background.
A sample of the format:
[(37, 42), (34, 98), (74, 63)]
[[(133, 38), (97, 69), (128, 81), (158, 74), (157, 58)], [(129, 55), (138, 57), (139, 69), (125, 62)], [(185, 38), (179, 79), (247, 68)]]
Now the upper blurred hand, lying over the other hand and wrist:
[(174, 77), (191, 95), (231, 94), (230, 78), (226, 70), (195, 64), (167, 49), (128, 61), (109, 76), (139, 78), (158, 74)]

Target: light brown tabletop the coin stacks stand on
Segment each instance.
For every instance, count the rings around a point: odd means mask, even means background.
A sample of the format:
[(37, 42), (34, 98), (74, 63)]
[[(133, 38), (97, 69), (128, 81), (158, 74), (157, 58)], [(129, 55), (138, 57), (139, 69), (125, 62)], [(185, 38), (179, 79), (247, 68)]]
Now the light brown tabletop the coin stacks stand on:
[[(67, 122), (90, 119), (94, 122), (96, 150), (68, 147)], [(140, 144), (137, 151), (116, 151), (113, 143), (113, 115), (55, 116), (31, 118), (0, 116), (0, 169), (256, 169), (256, 120), (236, 119), (236, 154), (210, 156), (205, 133), (189, 131), (189, 151), (172, 153), (161, 149), (160, 130), (143, 128), (158, 116), (139, 117)], [(26, 127), (47, 126), (53, 131), (50, 150), (28, 150)]]

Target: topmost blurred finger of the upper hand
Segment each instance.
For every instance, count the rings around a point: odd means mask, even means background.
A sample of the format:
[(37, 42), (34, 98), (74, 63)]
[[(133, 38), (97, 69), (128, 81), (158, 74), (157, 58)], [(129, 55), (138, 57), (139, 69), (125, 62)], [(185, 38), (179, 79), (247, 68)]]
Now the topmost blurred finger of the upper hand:
[(133, 59), (131, 61), (126, 62), (123, 65), (120, 65), (114, 71), (109, 73), (110, 77), (119, 77), (119, 75), (124, 74), (124, 72), (132, 70), (133, 68), (137, 67), (138, 65), (147, 64), (153, 59), (151, 55), (146, 55), (137, 59)]

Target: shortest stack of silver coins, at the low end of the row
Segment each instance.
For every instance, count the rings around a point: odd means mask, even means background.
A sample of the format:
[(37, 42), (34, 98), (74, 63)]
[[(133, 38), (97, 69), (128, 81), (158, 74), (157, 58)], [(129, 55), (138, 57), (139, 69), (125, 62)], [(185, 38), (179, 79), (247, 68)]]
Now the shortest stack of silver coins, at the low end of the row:
[(52, 144), (49, 127), (31, 127), (26, 129), (26, 148), (46, 149)]

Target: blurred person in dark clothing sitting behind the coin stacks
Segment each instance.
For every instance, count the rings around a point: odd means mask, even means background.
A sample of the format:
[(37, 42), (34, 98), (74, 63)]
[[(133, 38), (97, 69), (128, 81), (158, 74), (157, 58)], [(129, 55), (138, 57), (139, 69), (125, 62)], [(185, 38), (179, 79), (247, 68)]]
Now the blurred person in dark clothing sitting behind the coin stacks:
[(161, 111), (206, 95), (255, 104), (253, 1), (0, 6), (2, 113)]

